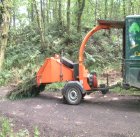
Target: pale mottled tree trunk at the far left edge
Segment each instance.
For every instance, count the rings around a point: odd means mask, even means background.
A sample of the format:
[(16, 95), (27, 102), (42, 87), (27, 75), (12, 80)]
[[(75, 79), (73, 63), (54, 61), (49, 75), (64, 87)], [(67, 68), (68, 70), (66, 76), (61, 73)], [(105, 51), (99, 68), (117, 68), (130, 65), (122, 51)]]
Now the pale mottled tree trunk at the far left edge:
[[(8, 32), (10, 26), (10, 12), (9, 12), (9, 0), (5, 0), (2, 3), (2, 9), (0, 9), (2, 14), (2, 23), (0, 24), (0, 71), (4, 63), (5, 50), (8, 40)], [(9, 4), (9, 5), (8, 5)]]

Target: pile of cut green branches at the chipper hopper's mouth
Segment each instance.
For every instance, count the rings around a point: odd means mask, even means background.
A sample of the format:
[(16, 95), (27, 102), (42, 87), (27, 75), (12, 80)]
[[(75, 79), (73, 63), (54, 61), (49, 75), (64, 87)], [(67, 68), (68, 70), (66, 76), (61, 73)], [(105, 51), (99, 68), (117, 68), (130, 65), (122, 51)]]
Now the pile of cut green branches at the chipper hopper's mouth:
[(7, 94), (7, 98), (10, 100), (35, 97), (39, 95), (41, 91), (45, 89), (45, 85), (36, 85), (35, 77), (26, 79), (18, 86)]

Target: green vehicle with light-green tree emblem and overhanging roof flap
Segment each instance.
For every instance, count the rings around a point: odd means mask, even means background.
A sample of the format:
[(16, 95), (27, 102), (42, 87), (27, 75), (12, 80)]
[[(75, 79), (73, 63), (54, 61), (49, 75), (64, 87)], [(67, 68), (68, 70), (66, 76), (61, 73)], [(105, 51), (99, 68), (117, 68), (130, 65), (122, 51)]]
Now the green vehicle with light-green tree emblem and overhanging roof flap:
[(125, 21), (98, 20), (99, 25), (123, 29), (123, 85), (140, 88), (140, 15)]

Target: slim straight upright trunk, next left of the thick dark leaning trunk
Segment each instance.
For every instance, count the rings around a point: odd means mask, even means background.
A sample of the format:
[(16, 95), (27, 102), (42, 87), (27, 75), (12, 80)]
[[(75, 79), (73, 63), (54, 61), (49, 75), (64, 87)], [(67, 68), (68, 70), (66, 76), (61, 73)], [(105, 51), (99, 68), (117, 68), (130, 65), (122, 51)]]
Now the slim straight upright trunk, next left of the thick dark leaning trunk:
[(67, 1), (67, 34), (70, 34), (70, 0)]

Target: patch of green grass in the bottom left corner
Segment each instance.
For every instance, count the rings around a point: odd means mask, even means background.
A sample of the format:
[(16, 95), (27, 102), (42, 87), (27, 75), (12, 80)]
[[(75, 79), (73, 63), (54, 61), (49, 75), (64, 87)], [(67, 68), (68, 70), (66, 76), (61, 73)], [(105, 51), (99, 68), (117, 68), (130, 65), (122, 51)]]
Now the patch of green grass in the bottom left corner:
[(40, 132), (38, 127), (34, 128), (34, 133), (31, 135), (27, 129), (14, 131), (13, 124), (8, 118), (0, 118), (0, 137), (39, 137)]

